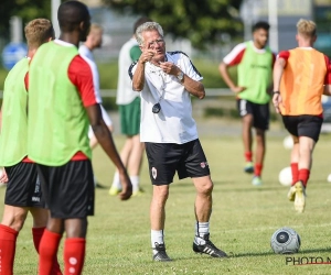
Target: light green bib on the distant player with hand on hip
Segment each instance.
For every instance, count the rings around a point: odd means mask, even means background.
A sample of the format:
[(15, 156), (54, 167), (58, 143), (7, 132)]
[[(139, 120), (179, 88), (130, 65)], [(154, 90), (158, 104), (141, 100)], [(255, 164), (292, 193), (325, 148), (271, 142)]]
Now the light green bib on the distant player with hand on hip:
[(252, 42), (246, 42), (246, 50), (238, 65), (238, 86), (246, 89), (238, 94), (241, 99), (265, 105), (270, 100), (267, 89), (273, 76), (273, 53), (269, 47), (257, 53)]

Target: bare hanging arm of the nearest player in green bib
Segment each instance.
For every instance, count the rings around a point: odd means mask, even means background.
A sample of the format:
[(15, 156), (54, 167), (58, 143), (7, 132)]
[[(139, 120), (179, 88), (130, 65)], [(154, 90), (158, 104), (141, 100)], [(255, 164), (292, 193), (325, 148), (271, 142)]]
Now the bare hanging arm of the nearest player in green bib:
[(86, 111), (95, 136), (119, 172), (119, 177), (122, 185), (122, 191), (119, 194), (119, 197), (121, 200), (127, 200), (132, 195), (132, 185), (119, 157), (113, 135), (103, 120), (100, 106), (88, 106), (86, 107)]

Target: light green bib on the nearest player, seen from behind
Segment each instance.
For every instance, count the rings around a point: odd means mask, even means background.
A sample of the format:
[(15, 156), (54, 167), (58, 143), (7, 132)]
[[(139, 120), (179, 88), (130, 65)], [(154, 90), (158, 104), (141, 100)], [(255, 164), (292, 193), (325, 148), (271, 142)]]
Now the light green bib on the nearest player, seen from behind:
[(83, 152), (92, 157), (88, 119), (79, 92), (68, 78), (75, 46), (43, 44), (29, 70), (29, 157), (47, 166), (61, 166)]

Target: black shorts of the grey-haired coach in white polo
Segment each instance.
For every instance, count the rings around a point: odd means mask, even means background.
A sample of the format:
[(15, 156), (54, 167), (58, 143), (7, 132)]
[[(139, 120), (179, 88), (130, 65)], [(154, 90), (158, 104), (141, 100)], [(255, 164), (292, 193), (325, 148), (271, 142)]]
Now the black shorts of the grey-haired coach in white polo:
[(150, 179), (153, 185), (169, 185), (175, 172), (180, 179), (210, 175), (209, 163), (199, 140), (184, 144), (146, 142)]

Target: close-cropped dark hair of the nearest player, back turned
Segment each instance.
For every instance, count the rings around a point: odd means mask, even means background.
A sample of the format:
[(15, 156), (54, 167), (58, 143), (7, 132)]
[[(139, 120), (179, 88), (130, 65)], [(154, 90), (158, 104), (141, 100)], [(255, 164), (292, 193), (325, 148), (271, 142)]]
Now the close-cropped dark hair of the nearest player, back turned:
[(57, 20), (61, 31), (72, 32), (81, 22), (89, 19), (86, 4), (79, 1), (66, 1), (58, 7)]

